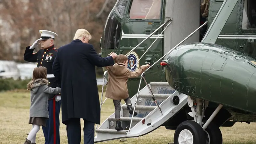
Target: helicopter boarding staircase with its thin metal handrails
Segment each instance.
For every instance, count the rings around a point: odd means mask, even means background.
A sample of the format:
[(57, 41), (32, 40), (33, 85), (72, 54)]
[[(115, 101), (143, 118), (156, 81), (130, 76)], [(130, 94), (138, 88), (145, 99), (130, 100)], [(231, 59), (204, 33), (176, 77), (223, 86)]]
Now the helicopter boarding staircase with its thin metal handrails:
[[(164, 22), (159, 28), (157, 28), (154, 32), (152, 32), (147, 38), (145, 38), (140, 44), (146, 41), (150, 36), (156, 33), (157, 30), (165, 26), (168, 22), (170, 22), (164, 30), (171, 24), (172, 18), (168, 19)], [(207, 21), (197, 28), (194, 32), (188, 35), (185, 39), (183, 39), (179, 44), (174, 46), (169, 52), (167, 52), (163, 57), (157, 60), (154, 64), (152, 64), (148, 69), (153, 67), (158, 61), (163, 59), (167, 54), (169, 54), (173, 49), (187, 40), (190, 36), (195, 34), (200, 28), (207, 24)], [(164, 32), (161, 32), (161, 34)], [(160, 35), (161, 35), (160, 34)], [(158, 37), (160, 36), (158, 35)], [(157, 38), (158, 38), (157, 37)], [(156, 40), (157, 40), (156, 38)], [(149, 48), (156, 42), (156, 40), (148, 47)], [(140, 44), (134, 47), (130, 52), (132, 52), (135, 48), (137, 48)], [(130, 53), (128, 52), (126, 56)], [(140, 57), (140, 59), (146, 54)], [(140, 59), (138, 61), (140, 61)], [(137, 63), (134, 64), (134, 66)], [(132, 68), (131, 68), (132, 69)], [(96, 126), (95, 132), (97, 135), (94, 137), (94, 143), (107, 141), (107, 140), (115, 140), (121, 138), (132, 138), (143, 136), (149, 132), (156, 130), (158, 127), (163, 125), (166, 121), (171, 119), (175, 114), (177, 114), (181, 108), (183, 108), (186, 104), (188, 104), (188, 96), (174, 90), (167, 82), (151, 82), (147, 83), (145, 79), (146, 69), (140, 77), (146, 83), (146, 86), (140, 90), (140, 84), (138, 88), (137, 94), (135, 94), (131, 98), (133, 114), (131, 115), (127, 110), (126, 104), (121, 105), (120, 112), (120, 122), (122, 125), (123, 131), (117, 131), (115, 113), (110, 115), (98, 128)], [(102, 103), (103, 97), (103, 88), (107, 71), (104, 72), (103, 76), (103, 86), (101, 92), (101, 102), (100, 108), (102, 104), (107, 100), (107, 98)], [(139, 91), (140, 90), (140, 91)], [(134, 116), (134, 111), (137, 112), (137, 115)]]

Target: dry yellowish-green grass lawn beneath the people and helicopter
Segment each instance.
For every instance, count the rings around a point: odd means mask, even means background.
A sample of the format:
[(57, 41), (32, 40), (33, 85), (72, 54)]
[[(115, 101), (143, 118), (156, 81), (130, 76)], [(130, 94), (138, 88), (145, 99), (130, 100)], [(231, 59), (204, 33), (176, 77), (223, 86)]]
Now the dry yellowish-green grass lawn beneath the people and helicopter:
[[(101, 93), (99, 93), (99, 96)], [(105, 98), (103, 98), (104, 100)], [(124, 101), (122, 101), (124, 103)], [(0, 144), (21, 144), (27, 137), (26, 133), (31, 130), (29, 119), (30, 95), (26, 90), (0, 92)], [(101, 122), (114, 112), (112, 100), (106, 100), (101, 110)], [(83, 143), (83, 120), (81, 120), (81, 132)], [(96, 127), (96, 124), (95, 124)], [(220, 127), (223, 136), (223, 144), (255, 144), (256, 124), (236, 123), (233, 127)], [(95, 133), (96, 135), (96, 133)], [(160, 127), (157, 130), (138, 137), (126, 139), (125, 143), (137, 144), (168, 144), (173, 142), (174, 130)], [(36, 135), (36, 143), (44, 144), (42, 128)], [(61, 123), (60, 112), (60, 143), (67, 144), (66, 126)], [(120, 140), (112, 140), (103, 143), (119, 144)]]

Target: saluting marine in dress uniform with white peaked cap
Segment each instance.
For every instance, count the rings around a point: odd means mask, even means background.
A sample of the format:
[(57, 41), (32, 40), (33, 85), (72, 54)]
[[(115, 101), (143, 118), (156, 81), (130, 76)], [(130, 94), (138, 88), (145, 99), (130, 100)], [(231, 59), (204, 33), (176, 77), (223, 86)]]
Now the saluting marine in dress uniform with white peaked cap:
[[(36, 62), (37, 67), (46, 67), (49, 86), (52, 88), (60, 87), (52, 73), (52, 64), (58, 52), (58, 49), (54, 46), (54, 39), (58, 35), (48, 30), (39, 30), (39, 33), (41, 33), (41, 38), (36, 40), (31, 46), (26, 47), (24, 60)], [(41, 40), (42, 48), (38, 52), (33, 53), (39, 40)], [(46, 122), (46, 127), (42, 126), (45, 144), (60, 144), (60, 104), (60, 93), (59, 95), (49, 94), (49, 119)]]

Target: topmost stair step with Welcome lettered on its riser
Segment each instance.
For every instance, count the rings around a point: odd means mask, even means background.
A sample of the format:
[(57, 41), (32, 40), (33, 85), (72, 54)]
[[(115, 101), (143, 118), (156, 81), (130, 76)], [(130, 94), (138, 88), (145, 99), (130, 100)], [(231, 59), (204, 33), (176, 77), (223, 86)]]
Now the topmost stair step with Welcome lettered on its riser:
[(149, 83), (153, 94), (172, 94), (174, 90), (167, 82), (151, 82)]

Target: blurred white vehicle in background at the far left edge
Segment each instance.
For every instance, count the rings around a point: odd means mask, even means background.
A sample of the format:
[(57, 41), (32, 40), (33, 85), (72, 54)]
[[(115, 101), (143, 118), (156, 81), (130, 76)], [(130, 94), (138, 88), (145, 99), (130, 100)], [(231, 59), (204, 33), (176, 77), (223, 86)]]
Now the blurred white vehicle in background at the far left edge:
[(20, 71), (15, 61), (0, 60), (0, 78), (20, 79)]

